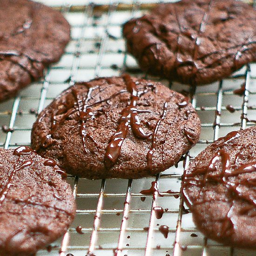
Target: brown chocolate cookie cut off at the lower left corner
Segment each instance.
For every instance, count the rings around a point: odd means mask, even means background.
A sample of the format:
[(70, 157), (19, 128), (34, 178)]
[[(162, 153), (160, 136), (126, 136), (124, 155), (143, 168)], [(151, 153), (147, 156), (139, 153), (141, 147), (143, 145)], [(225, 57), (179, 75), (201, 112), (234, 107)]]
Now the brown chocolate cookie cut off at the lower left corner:
[(1, 256), (31, 255), (67, 231), (76, 207), (58, 173), (31, 148), (0, 149)]

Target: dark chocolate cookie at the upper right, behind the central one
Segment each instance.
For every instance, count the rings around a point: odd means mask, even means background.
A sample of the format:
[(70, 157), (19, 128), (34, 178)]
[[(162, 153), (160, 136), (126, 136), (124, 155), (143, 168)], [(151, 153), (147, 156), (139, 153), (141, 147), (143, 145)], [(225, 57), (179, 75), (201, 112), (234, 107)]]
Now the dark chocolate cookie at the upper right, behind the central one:
[(205, 84), (256, 61), (256, 11), (234, 0), (159, 4), (123, 27), (141, 69), (171, 81)]

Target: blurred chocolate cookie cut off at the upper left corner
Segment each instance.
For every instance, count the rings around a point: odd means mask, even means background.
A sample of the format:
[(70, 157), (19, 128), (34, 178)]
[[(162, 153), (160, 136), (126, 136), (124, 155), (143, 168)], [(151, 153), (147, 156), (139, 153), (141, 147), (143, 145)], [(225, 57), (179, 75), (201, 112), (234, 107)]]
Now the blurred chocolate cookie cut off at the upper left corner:
[(0, 0), (0, 101), (43, 76), (60, 59), (70, 27), (63, 15), (29, 0)]

